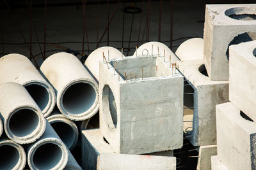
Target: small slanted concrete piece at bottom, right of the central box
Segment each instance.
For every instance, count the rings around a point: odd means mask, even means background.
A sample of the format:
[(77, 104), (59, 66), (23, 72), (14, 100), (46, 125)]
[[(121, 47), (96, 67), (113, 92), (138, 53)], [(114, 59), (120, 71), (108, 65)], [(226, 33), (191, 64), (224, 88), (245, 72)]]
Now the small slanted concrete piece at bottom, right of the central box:
[(213, 155), (217, 155), (217, 145), (200, 146), (196, 169), (211, 170), (211, 157)]

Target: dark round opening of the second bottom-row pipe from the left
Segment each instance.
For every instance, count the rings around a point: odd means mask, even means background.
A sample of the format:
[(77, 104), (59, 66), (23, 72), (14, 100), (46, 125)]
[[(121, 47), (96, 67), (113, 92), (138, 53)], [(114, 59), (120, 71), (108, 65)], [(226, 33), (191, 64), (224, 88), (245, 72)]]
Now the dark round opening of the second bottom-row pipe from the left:
[(46, 143), (35, 150), (33, 162), (36, 169), (52, 169), (60, 162), (61, 157), (62, 152), (58, 145)]

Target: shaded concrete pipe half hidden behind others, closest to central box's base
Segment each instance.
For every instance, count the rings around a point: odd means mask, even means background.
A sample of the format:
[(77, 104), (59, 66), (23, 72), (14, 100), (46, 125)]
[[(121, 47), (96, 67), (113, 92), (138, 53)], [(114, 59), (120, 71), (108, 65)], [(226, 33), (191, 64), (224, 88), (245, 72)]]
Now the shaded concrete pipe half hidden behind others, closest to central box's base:
[(65, 143), (69, 150), (72, 150), (76, 146), (79, 135), (76, 124), (58, 111), (54, 111), (46, 119), (61, 141)]

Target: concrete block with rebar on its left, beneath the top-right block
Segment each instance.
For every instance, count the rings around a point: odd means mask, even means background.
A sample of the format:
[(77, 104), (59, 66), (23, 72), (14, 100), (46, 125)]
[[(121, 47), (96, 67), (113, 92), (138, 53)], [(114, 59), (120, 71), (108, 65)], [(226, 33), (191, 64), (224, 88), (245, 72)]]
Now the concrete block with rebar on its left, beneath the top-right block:
[[(179, 71), (195, 90), (191, 99), (193, 106), (193, 130), (187, 129), (186, 136), (194, 146), (216, 144), (216, 104), (228, 101), (228, 81), (212, 81), (205, 73), (203, 60), (178, 62)], [(202, 72), (202, 73), (201, 73)]]

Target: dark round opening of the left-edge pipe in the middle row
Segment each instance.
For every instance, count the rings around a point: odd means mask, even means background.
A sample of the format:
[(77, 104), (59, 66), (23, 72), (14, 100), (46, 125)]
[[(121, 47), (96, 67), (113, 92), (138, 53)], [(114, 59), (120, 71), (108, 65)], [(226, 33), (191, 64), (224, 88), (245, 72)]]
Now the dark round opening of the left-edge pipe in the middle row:
[(9, 128), (15, 136), (24, 137), (35, 131), (38, 124), (39, 118), (35, 111), (21, 109), (10, 117)]

